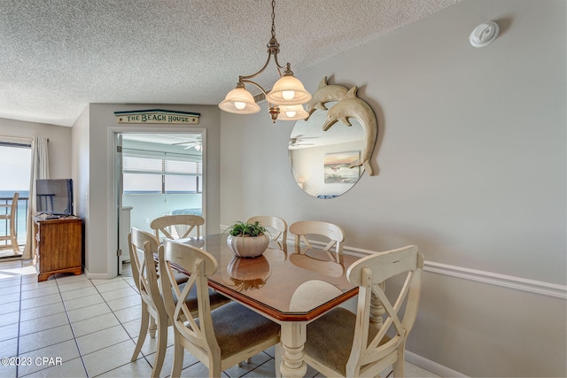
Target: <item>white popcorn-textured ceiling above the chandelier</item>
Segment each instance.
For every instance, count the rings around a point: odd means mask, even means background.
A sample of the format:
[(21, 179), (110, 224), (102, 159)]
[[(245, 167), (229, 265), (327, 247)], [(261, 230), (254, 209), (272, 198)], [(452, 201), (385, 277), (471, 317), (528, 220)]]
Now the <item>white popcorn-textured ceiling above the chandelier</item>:
[[(299, 72), (461, 0), (280, 0)], [(0, 0), (0, 118), (72, 126), (89, 103), (218, 104), (260, 69), (268, 0)], [(276, 81), (273, 63), (260, 75)]]

